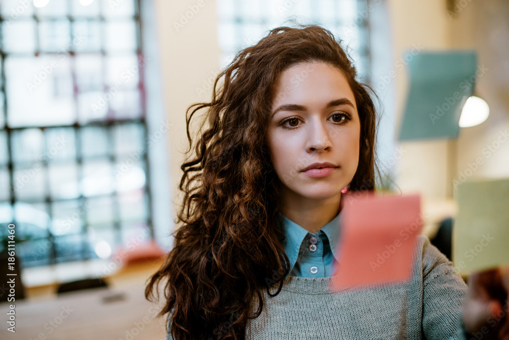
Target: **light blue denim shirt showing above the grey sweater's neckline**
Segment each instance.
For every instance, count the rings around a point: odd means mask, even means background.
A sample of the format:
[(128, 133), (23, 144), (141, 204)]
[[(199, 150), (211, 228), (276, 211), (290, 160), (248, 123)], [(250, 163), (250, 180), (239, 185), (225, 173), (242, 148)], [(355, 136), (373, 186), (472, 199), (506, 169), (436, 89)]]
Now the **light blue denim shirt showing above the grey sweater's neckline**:
[(338, 263), (340, 213), (316, 233), (309, 233), (286, 216), (283, 217), (282, 231), (285, 240), (282, 241), (282, 247), (290, 260), (288, 275), (332, 276)]

